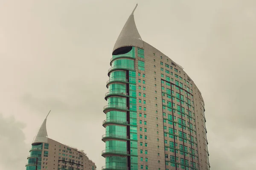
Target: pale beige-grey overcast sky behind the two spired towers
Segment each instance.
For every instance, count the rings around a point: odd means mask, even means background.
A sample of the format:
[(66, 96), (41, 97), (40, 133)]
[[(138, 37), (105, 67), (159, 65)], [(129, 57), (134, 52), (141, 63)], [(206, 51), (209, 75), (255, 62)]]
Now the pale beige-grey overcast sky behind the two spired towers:
[(25, 169), (48, 136), (105, 164), (107, 71), (136, 3), (142, 39), (194, 80), (205, 102), (211, 170), (256, 167), (255, 0), (0, 0), (0, 169)]

